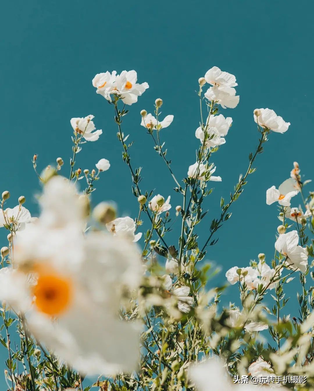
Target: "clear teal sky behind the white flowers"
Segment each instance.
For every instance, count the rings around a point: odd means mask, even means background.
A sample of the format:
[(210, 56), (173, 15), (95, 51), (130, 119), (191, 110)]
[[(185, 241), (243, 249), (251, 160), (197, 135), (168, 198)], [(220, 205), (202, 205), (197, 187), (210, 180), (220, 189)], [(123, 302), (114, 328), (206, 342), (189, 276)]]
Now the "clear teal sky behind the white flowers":
[[(299, 162), (306, 179), (312, 174), (308, 146), (313, 140), (309, 48), (313, 11), (314, 6), (304, 0), (297, 4), (291, 0), (5, 2), (0, 27), (0, 126), (1, 191), (11, 192), (8, 206), (25, 195), (25, 206), (36, 215), (33, 194), (40, 187), (32, 169), (33, 154), (38, 154), (39, 170), (61, 156), (62, 172), (68, 176), (70, 119), (93, 114), (103, 134), (97, 142), (84, 144), (77, 167), (91, 170), (100, 158), (109, 159), (111, 168), (98, 181), (93, 204), (114, 200), (120, 215), (136, 217), (138, 204), (121, 160), (113, 107), (96, 95), (91, 84), (96, 73), (135, 69), (139, 83), (147, 81), (150, 88), (130, 107), (123, 131), (135, 141), (130, 154), (133, 166), (143, 167), (142, 189), (170, 194), (174, 215), (174, 207), (182, 201), (172, 190), (152, 140), (139, 126), (139, 112), (144, 108), (152, 112), (155, 99), (164, 100), (162, 112), (173, 114), (174, 121), (162, 131), (162, 138), (173, 171), (183, 178), (199, 145), (194, 136), (199, 122), (197, 80), (218, 66), (236, 76), (240, 103), (235, 109), (221, 109), (225, 117), (233, 118), (227, 143), (213, 156), (223, 181), (214, 183), (214, 194), (206, 201), (210, 212), (198, 229), (205, 240), (209, 222), (219, 216), (220, 197), (228, 199), (239, 174), (246, 171), (248, 154), (258, 141), (253, 110), (273, 109), (291, 126), (284, 135), (270, 135), (257, 171), (234, 204), (232, 218), (219, 230), (218, 244), (207, 254), (223, 267), (220, 282), (229, 267), (246, 266), (260, 252), (269, 261), (279, 221), (275, 204), (265, 203), (266, 189), (289, 177), (293, 161)], [(178, 229), (177, 224), (174, 230)], [(177, 245), (177, 238), (173, 235), (168, 242)]]

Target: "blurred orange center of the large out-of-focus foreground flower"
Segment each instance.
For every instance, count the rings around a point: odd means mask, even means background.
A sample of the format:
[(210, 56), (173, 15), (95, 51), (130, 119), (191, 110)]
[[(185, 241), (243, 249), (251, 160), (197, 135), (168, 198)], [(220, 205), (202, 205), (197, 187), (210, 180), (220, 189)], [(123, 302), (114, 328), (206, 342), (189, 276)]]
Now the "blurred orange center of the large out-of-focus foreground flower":
[(37, 309), (49, 316), (58, 316), (70, 305), (73, 296), (71, 281), (55, 273), (39, 273), (33, 288)]

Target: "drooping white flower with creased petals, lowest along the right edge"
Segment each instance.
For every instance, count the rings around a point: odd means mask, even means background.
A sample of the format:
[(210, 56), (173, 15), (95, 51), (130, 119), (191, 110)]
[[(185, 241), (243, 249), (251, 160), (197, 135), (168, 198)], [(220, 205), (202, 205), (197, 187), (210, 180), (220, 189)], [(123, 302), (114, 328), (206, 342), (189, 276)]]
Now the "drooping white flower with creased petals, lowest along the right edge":
[(282, 233), (279, 235), (275, 249), (287, 257), (285, 265), (292, 270), (300, 270), (305, 273), (307, 269), (307, 249), (299, 246), (299, 236), (297, 231)]

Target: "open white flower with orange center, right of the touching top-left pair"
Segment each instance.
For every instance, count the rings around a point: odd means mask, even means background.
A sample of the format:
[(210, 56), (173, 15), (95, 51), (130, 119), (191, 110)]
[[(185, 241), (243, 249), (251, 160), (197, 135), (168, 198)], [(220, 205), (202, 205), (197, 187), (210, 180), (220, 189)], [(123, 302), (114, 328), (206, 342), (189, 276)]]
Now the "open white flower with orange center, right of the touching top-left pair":
[(116, 93), (120, 95), (123, 103), (131, 105), (137, 102), (137, 97), (142, 95), (143, 92), (149, 87), (147, 83), (138, 84), (137, 73), (132, 71), (122, 71), (120, 75), (117, 75), (115, 81)]

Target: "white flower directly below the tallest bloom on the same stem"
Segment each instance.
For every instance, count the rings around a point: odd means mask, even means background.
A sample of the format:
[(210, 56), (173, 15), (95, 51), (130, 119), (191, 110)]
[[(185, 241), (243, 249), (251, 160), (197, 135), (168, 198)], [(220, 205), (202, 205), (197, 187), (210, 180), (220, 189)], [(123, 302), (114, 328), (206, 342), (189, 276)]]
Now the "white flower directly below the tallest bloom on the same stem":
[[(226, 142), (224, 136), (227, 135), (228, 130), (232, 124), (232, 118), (225, 118), (222, 114), (219, 115), (210, 115), (206, 121), (206, 131), (208, 133), (208, 137), (206, 140), (206, 147), (216, 147), (217, 145), (222, 145)], [(195, 131), (195, 136), (201, 142), (204, 142), (204, 132), (202, 127), (198, 127)]]

